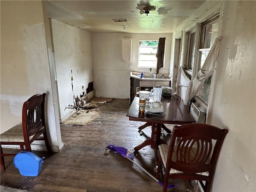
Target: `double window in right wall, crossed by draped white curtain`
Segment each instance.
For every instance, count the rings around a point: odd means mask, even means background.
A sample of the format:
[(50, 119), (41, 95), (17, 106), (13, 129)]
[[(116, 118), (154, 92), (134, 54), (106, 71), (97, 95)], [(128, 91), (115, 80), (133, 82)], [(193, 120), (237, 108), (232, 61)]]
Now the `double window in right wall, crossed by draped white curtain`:
[[(186, 51), (183, 66), (184, 72), (191, 80), (203, 66), (215, 39), (218, 37), (219, 26), (220, 17), (219, 14), (217, 14), (186, 32)], [(194, 97), (196, 102), (205, 110), (207, 110), (208, 106), (211, 79), (212, 77), (210, 76), (204, 81), (204, 84)]]

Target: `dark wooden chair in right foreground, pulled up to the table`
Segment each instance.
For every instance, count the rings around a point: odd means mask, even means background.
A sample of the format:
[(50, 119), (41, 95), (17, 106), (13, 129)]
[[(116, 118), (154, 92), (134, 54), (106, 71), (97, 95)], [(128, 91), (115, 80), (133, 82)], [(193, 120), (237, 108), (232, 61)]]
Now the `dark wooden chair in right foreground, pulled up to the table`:
[(210, 192), (220, 149), (227, 133), (227, 129), (207, 124), (174, 126), (170, 144), (158, 146), (160, 156), (156, 176), (159, 177), (163, 170), (161, 167), (164, 167), (163, 192), (167, 191), (169, 178), (198, 180), (204, 192)]

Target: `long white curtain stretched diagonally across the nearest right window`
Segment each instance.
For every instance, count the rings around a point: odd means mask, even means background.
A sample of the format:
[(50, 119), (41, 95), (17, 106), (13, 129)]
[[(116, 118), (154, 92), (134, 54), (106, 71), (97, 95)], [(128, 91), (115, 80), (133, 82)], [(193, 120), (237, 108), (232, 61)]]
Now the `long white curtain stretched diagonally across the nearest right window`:
[(220, 41), (222, 37), (216, 38), (212, 48), (206, 57), (202, 68), (198, 71), (196, 77), (188, 83), (188, 87), (186, 88), (186, 95), (184, 98), (184, 104), (187, 106), (190, 100), (198, 93), (201, 86), (204, 84), (204, 80), (212, 75), (214, 71), (214, 64), (218, 58)]

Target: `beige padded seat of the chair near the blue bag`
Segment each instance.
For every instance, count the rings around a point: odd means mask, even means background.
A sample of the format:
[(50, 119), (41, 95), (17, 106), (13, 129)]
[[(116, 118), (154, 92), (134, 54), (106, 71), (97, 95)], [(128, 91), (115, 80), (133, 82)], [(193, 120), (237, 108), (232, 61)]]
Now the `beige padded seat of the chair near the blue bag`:
[[(44, 129), (44, 126), (40, 130)], [(34, 135), (29, 136), (31, 140)], [(24, 142), (22, 124), (18, 124), (0, 135), (1, 142)]]

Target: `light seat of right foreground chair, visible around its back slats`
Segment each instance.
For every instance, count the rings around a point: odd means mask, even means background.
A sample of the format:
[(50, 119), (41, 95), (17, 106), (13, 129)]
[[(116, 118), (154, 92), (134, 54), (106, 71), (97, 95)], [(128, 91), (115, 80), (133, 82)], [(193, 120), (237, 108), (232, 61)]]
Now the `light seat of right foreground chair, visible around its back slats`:
[[(161, 145), (158, 146), (158, 148), (159, 148), (160, 156), (162, 158), (164, 167), (166, 167), (169, 145), (168, 144), (161, 144)], [(193, 151), (193, 148), (192, 148), (192, 151)], [(196, 151), (196, 149), (194, 151)], [(175, 162), (176, 159), (177, 159), (177, 157), (176, 157), (176, 148), (174, 147), (174, 151), (173, 151), (173, 154), (172, 154), (172, 161)], [(170, 174), (175, 174), (175, 173), (182, 173), (182, 172), (178, 171), (176, 169), (171, 168)], [(196, 173), (196, 174), (201, 174), (201, 175), (204, 175), (204, 176), (209, 176), (209, 172), (202, 172), (202, 173)]]

